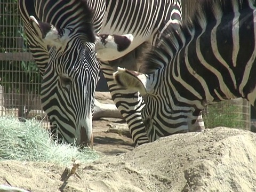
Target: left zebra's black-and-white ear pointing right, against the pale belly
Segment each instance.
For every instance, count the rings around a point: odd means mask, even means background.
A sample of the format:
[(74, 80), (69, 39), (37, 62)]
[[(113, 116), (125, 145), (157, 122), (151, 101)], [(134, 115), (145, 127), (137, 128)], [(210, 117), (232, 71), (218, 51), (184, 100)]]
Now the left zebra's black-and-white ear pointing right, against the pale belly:
[[(109, 35), (97, 34), (96, 51), (98, 58), (108, 58), (106, 60), (114, 60), (122, 57), (124, 51), (128, 49), (133, 41), (133, 35)], [(123, 53), (122, 53), (123, 52)], [(126, 53), (125, 53), (126, 54)], [(113, 58), (109, 58), (113, 57)]]

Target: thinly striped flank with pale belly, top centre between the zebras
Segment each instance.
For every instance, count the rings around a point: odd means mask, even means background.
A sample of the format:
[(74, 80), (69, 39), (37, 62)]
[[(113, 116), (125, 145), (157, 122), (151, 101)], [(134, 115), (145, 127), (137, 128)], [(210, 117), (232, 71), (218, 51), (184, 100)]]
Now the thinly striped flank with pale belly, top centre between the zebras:
[(177, 0), (109, 0), (106, 6), (101, 33), (133, 34), (139, 44), (148, 41), (155, 45), (166, 26), (182, 21), (181, 3)]

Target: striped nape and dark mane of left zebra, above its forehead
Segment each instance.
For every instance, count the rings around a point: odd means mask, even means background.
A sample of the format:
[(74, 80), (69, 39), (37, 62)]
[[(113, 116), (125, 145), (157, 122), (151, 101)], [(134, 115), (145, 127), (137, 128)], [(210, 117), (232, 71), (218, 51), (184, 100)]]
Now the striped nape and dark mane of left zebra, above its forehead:
[(37, 19), (57, 28), (79, 29), (87, 41), (95, 41), (92, 23), (94, 11), (86, 0), (34, 0), (34, 5)]

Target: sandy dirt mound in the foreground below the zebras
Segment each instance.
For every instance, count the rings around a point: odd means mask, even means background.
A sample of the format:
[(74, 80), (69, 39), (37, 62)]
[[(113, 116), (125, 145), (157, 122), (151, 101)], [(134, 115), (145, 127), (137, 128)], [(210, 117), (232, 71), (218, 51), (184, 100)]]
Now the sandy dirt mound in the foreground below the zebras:
[[(58, 191), (65, 167), (5, 161), (0, 183)], [(177, 134), (82, 165), (63, 191), (256, 191), (256, 135), (218, 127)], [(3, 178), (6, 178), (3, 179)]]

